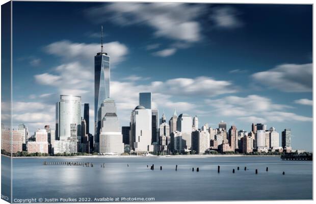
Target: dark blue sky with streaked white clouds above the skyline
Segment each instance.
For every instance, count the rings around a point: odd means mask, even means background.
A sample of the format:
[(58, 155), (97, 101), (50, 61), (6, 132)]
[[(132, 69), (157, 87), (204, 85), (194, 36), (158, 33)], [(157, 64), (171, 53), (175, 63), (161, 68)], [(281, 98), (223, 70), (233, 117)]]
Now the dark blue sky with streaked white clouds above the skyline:
[(311, 150), (311, 5), (13, 2), (14, 100), (35, 107), (16, 123), (54, 125), (61, 93), (93, 110), (101, 24), (122, 125), (151, 91), (167, 118), (290, 127), (293, 147)]

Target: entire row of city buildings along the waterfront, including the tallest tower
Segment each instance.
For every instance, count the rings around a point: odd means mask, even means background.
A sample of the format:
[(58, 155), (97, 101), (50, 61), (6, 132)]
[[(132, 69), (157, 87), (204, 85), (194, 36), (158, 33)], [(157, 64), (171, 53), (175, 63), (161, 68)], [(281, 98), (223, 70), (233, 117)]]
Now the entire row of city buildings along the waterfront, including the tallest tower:
[[(81, 96), (60, 95), (56, 103), (56, 127), (45, 125), (30, 136), (25, 124), (17, 130), (6, 129), (2, 124), (2, 149), (7, 152), (64, 154), (98, 152), (163, 152), (163, 154), (204, 154), (209, 151), (291, 151), (291, 129), (279, 133), (274, 127), (252, 124), (251, 131), (238, 130), (232, 125), (227, 131), (224, 121), (217, 128), (204, 124), (199, 128), (197, 116), (193, 118), (174, 110), (167, 121), (163, 113), (152, 107), (152, 94), (139, 93), (139, 105), (131, 111), (129, 126), (120, 128), (116, 104), (110, 98), (110, 57), (101, 52), (94, 57), (94, 135), (89, 132), (89, 104)], [(12, 137), (11, 137), (12, 135)]]

